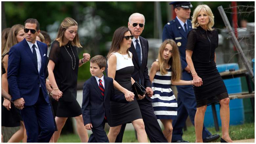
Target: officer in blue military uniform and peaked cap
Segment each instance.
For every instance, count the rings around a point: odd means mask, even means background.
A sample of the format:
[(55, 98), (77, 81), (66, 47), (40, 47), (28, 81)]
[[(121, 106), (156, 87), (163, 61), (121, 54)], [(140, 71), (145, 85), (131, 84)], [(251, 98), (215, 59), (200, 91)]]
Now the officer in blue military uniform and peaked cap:
[[(190, 18), (190, 8), (193, 6), (190, 2), (171, 2), (176, 18), (168, 22), (163, 28), (162, 40), (173, 39), (180, 51), (181, 67), (182, 67), (182, 80), (193, 80), (190, 74), (190, 69), (186, 61), (186, 44), (188, 32), (192, 30)], [(186, 119), (189, 115), (191, 122), (194, 124), (196, 114), (196, 97), (194, 94), (193, 86), (176, 86), (178, 90), (178, 115), (177, 119), (172, 121), (173, 132), (172, 142), (188, 142), (182, 139), (182, 128), (185, 125)], [(210, 142), (218, 139), (219, 134), (212, 135), (203, 126), (203, 142)]]

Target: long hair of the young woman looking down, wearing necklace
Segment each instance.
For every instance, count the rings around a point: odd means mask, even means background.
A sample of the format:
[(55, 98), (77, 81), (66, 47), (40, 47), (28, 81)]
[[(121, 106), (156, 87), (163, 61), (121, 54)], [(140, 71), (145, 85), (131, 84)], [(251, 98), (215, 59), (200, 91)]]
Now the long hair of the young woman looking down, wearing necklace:
[[(59, 42), (59, 46), (62, 47), (64, 46), (63, 43), (63, 39), (64, 39), (64, 32), (70, 27), (70, 26), (78, 26), (77, 22), (71, 18), (71, 17), (66, 17), (64, 18), (64, 20), (61, 22), (60, 26), (59, 26), (59, 30), (58, 30), (58, 34), (57, 34), (57, 38), (55, 40), (57, 40)], [(78, 32), (75, 35), (75, 38), (73, 39), (73, 41), (71, 41), (71, 45), (72, 46), (76, 46), (78, 48), (81, 48), (81, 44), (79, 42), (79, 36), (78, 36)]]

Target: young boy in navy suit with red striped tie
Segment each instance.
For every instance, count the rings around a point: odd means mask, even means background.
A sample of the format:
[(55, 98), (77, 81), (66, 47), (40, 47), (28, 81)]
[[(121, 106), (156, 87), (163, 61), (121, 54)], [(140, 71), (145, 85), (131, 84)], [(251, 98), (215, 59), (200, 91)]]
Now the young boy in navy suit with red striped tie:
[(114, 96), (113, 79), (103, 75), (107, 61), (102, 55), (90, 60), (89, 78), (83, 86), (82, 115), (87, 130), (92, 130), (88, 142), (109, 142), (104, 131), (105, 123), (111, 123), (110, 100), (128, 103), (124, 96)]

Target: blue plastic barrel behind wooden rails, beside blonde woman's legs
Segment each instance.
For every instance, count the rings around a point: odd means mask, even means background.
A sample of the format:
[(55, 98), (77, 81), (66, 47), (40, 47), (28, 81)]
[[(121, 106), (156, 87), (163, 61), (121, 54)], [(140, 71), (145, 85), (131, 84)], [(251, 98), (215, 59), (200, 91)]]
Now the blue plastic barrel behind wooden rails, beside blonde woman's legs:
[[(230, 63), (230, 64), (220, 64), (217, 65), (217, 70), (219, 72), (225, 72), (225, 71), (233, 71), (233, 70), (239, 70), (239, 66), (237, 63)], [(241, 79), (240, 78), (230, 78), (225, 79), (224, 84), (227, 88), (227, 93), (241, 93), (242, 92), (242, 86), (241, 86)], [(217, 112), (217, 118), (219, 126), (221, 126), (221, 118), (220, 118), (220, 104), (215, 105), (216, 112)], [(233, 99), (229, 102), (229, 110), (230, 110), (230, 125), (238, 125), (243, 124), (245, 121), (245, 115), (244, 115), (244, 105), (243, 105), (243, 99)], [(213, 127), (214, 126), (214, 120), (213, 120), (213, 114), (212, 114), (212, 106), (207, 106), (205, 115), (204, 115), (204, 125), (206, 127)]]

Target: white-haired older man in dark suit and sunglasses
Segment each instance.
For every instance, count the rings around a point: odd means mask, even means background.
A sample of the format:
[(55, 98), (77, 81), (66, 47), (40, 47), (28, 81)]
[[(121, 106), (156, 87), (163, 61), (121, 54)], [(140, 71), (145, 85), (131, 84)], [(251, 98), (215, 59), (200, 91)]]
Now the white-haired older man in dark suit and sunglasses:
[[(154, 114), (153, 106), (151, 103), (151, 96), (153, 91), (151, 89), (151, 81), (148, 76), (148, 40), (141, 37), (145, 25), (145, 17), (140, 13), (133, 13), (129, 17), (128, 28), (131, 34), (134, 35), (132, 39), (131, 48), (134, 72), (132, 78), (138, 81), (146, 88), (147, 94), (142, 100), (137, 100), (139, 103), (140, 112), (144, 121), (145, 131), (148, 135), (150, 142), (168, 142), (164, 137), (157, 117)], [(117, 135), (116, 142), (122, 142), (126, 124), (122, 125), (120, 133)]]

